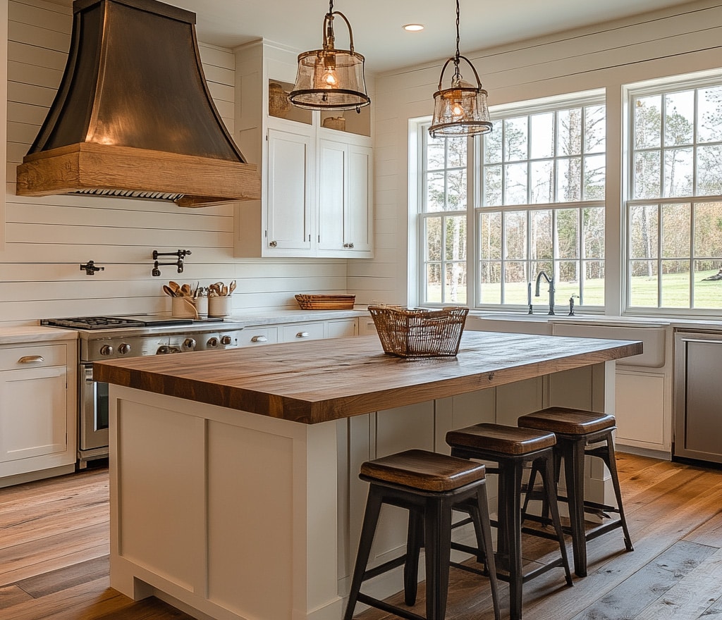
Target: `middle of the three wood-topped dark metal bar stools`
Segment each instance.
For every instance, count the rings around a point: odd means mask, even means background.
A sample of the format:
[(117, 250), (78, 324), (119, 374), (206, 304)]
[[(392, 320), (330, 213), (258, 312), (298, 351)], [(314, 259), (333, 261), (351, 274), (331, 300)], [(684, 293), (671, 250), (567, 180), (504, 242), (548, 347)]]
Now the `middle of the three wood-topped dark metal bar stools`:
[[(509, 583), (511, 620), (521, 620), (523, 582), (538, 577), (550, 569), (562, 567), (567, 585), (572, 585), (562, 524), (557, 506), (553, 502), (557, 495), (552, 451), (556, 438), (550, 432), (506, 427), (501, 424), (476, 424), (449, 431), (446, 434), (446, 442), (451, 446), (452, 456), (491, 460), (497, 463), (496, 468), (487, 466), (487, 472), (499, 475), (496, 559), (497, 569), (504, 569), (506, 574), (497, 572), (497, 577)], [(524, 575), (521, 560), (521, 477), (526, 463), (536, 466), (544, 481), (552, 522), (559, 541), (560, 556), (549, 564), (544, 564)], [(464, 510), (465, 506), (457, 505), (455, 509)]]

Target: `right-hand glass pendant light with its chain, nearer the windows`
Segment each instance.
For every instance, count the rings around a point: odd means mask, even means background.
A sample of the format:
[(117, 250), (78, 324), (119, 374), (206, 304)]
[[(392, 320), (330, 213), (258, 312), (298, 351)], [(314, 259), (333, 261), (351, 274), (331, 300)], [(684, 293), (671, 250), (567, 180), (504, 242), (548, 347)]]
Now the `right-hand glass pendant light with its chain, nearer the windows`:
[[(456, 55), (449, 58), (441, 69), (439, 86), (434, 93), (434, 117), (429, 127), (432, 138), (458, 138), (461, 136), (477, 136), (492, 131), (492, 123), (487, 108), (487, 92), (482, 88), (479, 74), (469, 58), (458, 52), (459, 0), (456, 0)], [(476, 86), (466, 82), (459, 71), (459, 61), (464, 60), (471, 67)], [(453, 62), (454, 72), (451, 77), (451, 88), (442, 89), (444, 71)]]

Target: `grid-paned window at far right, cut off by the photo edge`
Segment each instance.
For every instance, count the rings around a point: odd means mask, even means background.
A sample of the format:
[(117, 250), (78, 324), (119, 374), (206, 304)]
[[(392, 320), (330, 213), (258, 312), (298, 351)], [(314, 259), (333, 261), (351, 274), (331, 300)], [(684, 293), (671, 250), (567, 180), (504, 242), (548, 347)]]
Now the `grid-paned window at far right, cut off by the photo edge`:
[(629, 89), (626, 306), (722, 308), (722, 82)]

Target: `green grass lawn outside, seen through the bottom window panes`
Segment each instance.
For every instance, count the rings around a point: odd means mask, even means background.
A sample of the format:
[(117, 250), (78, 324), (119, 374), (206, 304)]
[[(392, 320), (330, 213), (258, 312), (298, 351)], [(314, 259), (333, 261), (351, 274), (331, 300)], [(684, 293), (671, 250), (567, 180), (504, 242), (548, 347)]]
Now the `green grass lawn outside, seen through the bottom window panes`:
[[(669, 308), (688, 308), (695, 307), (698, 309), (720, 309), (722, 308), (722, 280), (704, 281), (705, 278), (713, 276), (717, 273), (716, 269), (711, 271), (697, 271), (694, 274), (694, 302), (690, 303), (690, 274), (664, 274), (662, 276), (662, 299), (661, 306)], [(556, 305), (567, 305), (572, 295), (579, 294), (578, 282), (557, 282), (554, 285)], [(531, 303), (534, 306), (547, 305), (549, 300), (549, 285), (544, 279), (539, 287), (539, 297), (534, 296), (534, 287), (532, 287)], [(429, 286), (429, 297), (431, 302), (441, 302), (441, 287)], [(466, 287), (458, 287), (456, 300), (446, 299), (447, 303), (467, 304), (470, 300), (466, 300)], [(584, 300), (583, 305), (601, 306), (604, 305), (604, 280), (593, 279), (584, 283)], [(495, 304), (501, 303), (501, 285), (482, 284), (482, 303)], [(513, 282), (505, 286), (505, 303), (510, 305), (527, 304), (527, 284), (526, 282)], [(575, 300), (578, 305), (579, 300)], [(630, 289), (630, 307), (658, 307), (657, 304), (657, 278), (656, 276), (635, 276), (632, 277)]]

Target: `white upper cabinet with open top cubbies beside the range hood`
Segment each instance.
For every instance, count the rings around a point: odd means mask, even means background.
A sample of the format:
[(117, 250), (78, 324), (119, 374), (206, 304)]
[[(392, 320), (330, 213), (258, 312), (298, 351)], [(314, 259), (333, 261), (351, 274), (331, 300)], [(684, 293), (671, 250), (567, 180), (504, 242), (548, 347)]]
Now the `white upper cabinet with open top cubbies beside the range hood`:
[(235, 256), (372, 258), (370, 108), (295, 108), (295, 71), (279, 46), (236, 51), (238, 143), (261, 167), (263, 196), (236, 206)]

